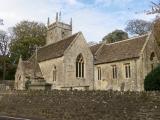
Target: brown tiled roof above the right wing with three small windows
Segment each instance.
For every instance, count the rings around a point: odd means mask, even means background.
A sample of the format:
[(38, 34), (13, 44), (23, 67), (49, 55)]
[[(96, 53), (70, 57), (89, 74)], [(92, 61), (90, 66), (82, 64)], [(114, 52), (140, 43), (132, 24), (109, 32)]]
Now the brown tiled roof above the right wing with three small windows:
[(143, 35), (129, 40), (104, 44), (99, 50), (95, 46), (98, 52), (95, 52), (96, 50), (93, 50), (91, 47), (91, 51), (94, 53), (95, 57), (95, 64), (138, 58), (147, 37), (148, 35)]

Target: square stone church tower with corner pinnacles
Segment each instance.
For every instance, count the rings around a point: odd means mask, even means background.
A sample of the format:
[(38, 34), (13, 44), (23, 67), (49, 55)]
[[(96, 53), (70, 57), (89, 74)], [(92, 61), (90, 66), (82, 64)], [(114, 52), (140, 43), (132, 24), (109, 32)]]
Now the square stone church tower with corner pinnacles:
[(50, 20), (48, 18), (46, 45), (56, 43), (72, 35), (72, 19), (70, 21), (70, 24), (65, 24), (60, 21), (60, 14), (58, 15), (58, 13), (56, 13), (56, 22), (54, 22), (53, 24), (50, 24)]

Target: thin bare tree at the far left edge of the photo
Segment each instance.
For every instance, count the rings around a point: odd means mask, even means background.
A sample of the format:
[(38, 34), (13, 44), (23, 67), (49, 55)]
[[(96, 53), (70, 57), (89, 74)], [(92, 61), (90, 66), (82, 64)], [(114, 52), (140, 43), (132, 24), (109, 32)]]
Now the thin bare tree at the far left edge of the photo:
[(3, 62), (3, 80), (6, 76), (6, 60), (8, 55), (9, 36), (5, 31), (0, 31), (0, 55)]

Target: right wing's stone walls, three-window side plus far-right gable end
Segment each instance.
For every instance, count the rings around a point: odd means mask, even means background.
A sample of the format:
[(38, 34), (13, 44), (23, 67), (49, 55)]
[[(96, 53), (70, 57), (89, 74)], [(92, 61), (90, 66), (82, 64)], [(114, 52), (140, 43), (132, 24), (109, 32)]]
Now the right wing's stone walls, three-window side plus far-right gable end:
[[(121, 86), (124, 85), (124, 90), (131, 91), (143, 91), (144, 90), (144, 79), (152, 69), (158, 64), (158, 56), (155, 49), (157, 43), (155, 42), (152, 35), (146, 40), (144, 47), (140, 52), (140, 57), (137, 59), (123, 60), (118, 62), (106, 63), (95, 65), (94, 67), (94, 79), (95, 89), (98, 90), (120, 90)], [(151, 60), (151, 54), (154, 53), (153, 60)], [(125, 64), (130, 63), (131, 67), (131, 78), (125, 78)], [(112, 66), (117, 66), (118, 76), (117, 79), (113, 79)], [(98, 68), (101, 68), (101, 80), (98, 80)], [(153, 67), (153, 68), (152, 68)]]

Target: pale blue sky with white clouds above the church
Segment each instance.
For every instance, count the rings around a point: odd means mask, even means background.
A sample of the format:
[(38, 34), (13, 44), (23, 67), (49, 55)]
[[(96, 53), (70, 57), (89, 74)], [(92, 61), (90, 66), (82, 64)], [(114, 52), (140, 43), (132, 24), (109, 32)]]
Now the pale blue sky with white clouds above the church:
[[(152, 0), (154, 1), (154, 0)], [(22, 20), (47, 23), (55, 21), (62, 12), (62, 21), (73, 19), (73, 32), (82, 31), (86, 40), (100, 41), (115, 29), (124, 29), (130, 19), (153, 20), (144, 10), (151, 8), (151, 0), (0, 0), (0, 18), (6, 29)]]

